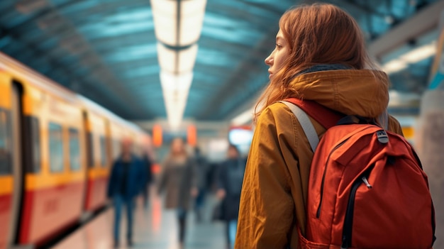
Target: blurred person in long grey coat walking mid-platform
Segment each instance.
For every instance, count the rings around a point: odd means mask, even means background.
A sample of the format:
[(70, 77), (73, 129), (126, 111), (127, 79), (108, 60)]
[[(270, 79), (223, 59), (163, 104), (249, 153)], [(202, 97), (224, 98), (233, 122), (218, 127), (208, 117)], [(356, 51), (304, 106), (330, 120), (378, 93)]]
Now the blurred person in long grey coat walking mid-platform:
[(185, 221), (189, 204), (198, 194), (196, 188), (196, 166), (188, 155), (184, 141), (174, 138), (171, 143), (170, 155), (162, 165), (159, 193), (165, 190), (165, 207), (177, 210), (179, 221), (179, 245), (183, 248), (185, 237)]

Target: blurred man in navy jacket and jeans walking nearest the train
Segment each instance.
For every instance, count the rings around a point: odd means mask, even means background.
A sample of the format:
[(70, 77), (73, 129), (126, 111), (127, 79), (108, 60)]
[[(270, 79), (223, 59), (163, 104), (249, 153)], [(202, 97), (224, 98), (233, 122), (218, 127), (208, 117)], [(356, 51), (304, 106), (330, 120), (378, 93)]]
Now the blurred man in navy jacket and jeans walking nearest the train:
[(118, 247), (119, 228), (122, 206), (126, 206), (128, 221), (127, 243), (133, 245), (133, 209), (134, 198), (142, 191), (144, 184), (143, 169), (140, 160), (132, 153), (132, 142), (125, 138), (122, 140), (121, 156), (116, 159), (111, 169), (107, 196), (113, 200), (114, 218), (114, 246)]

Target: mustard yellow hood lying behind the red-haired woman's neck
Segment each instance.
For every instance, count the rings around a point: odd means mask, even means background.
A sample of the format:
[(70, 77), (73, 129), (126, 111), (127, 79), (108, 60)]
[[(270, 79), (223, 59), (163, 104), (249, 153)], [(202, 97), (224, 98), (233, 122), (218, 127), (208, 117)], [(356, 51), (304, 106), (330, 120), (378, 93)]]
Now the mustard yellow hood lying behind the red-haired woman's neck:
[(389, 79), (377, 70), (329, 70), (301, 74), (289, 89), (345, 115), (377, 118), (389, 104)]

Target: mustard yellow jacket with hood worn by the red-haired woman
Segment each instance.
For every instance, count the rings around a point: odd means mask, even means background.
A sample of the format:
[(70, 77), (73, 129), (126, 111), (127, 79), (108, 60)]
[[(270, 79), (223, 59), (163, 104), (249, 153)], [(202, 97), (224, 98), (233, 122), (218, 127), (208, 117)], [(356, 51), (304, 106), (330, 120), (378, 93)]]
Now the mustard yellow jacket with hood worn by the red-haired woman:
[[(389, 80), (372, 70), (302, 74), (292, 87), (303, 96), (347, 115), (377, 118), (389, 102)], [(311, 119), (321, 137), (325, 129)], [(390, 131), (401, 126), (389, 116)], [(306, 197), (313, 153), (292, 111), (268, 106), (255, 128), (240, 197), (235, 249), (297, 248), (297, 227), (305, 233)]]

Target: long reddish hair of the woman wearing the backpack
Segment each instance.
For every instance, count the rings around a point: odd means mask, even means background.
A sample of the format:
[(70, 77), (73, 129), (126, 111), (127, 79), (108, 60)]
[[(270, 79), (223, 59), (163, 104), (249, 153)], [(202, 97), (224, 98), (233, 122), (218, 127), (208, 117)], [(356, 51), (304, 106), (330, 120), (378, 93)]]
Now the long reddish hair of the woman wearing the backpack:
[(289, 45), (289, 56), (257, 101), (255, 120), (270, 104), (299, 96), (288, 85), (296, 74), (313, 65), (342, 64), (355, 70), (377, 68), (367, 54), (355, 19), (337, 6), (312, 4), (289, 9), (282, 15), (279, 28)]

